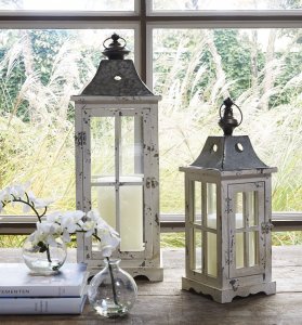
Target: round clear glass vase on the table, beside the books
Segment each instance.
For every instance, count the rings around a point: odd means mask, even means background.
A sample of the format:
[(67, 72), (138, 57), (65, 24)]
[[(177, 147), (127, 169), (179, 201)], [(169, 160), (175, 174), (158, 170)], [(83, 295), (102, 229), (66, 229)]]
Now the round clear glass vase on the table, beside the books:
[(102, 316), (126, 315), (137, 297), (133, 277), (120, 269), (120, 260), (105, 259), (105, 268), (94, 275), (88, 288), (90, 304)]

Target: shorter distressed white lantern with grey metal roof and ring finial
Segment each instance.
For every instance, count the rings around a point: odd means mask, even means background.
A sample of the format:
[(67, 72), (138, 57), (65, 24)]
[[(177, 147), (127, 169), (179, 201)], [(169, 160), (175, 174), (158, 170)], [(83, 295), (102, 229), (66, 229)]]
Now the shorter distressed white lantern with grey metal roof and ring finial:
[(224, 136), (209, 136), (199, 157), (180, 168), (185, 173), (186, 207), (182, 287), (221, 303), (235, 296), (276, 291), (271, 272), (271, 176), (277, 169), (258, 158), (247, 135), (232, 135), (240, 123), (233, 117), (233, 105), (227, 99), (221, 106)]

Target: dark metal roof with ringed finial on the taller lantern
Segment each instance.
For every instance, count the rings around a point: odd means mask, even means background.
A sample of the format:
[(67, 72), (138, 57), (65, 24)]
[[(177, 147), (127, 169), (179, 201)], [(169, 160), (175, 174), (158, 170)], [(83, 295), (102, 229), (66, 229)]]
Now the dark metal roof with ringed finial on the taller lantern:
[[(106, 47), (106, 41), (113, 42)], [(123, 40), (122, 46), (119, 40)], [(91, 82), (81, 95), (93, 96), (153, 96), (153, 92), (141, 80), (132, 60), (124, 60), (129, 54), (126, 40), (114, 34), (104, 41), (102, 52), (108, 60), (102, 60)]]

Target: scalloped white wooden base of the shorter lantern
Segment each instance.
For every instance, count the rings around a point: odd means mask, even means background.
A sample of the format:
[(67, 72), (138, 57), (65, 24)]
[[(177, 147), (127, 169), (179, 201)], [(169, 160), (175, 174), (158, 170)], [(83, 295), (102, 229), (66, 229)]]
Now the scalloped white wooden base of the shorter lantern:
[(249, 295), (255, 295), (259, 292), (264, 292), (266, 295), (276, 294), (276, 283), (275, 282), (266, 282), (260, 283), (255, 285), (248, 285), (244, 287), (237, 287), (236, 290), (233, 289), (219, 289), (215, 287), (211, 287), (194, 280), (183, 277), (182, 278), (182, 288), (184, 290), (193, 289), (197, 294), (210, 295), (214, 301), (220, 303), (232, 302), (232, 300), (236, 297), (247, 297)]

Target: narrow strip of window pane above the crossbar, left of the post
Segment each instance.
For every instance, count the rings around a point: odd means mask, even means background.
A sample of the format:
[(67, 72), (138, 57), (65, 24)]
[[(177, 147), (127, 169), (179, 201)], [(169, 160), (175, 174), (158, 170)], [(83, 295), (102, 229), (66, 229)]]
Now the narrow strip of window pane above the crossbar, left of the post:
[(1, 0), (1, 10), (133, 11), (134, 0)]

